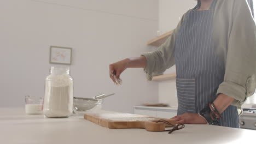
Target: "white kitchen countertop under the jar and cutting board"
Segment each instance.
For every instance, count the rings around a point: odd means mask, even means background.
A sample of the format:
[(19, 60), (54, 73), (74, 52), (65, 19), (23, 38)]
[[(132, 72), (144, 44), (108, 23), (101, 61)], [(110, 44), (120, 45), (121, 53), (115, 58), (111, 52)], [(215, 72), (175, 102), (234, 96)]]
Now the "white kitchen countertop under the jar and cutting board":
[[(101, 111), (106, 113), (108, 111)], [(182, 130), (107, 129), (83, 116), (46, 118), (24, 108), (0, 108), (0, 143), (254, 143), (256, 131), (185, 124)]]

